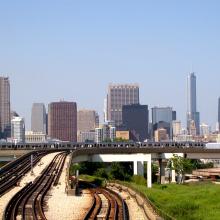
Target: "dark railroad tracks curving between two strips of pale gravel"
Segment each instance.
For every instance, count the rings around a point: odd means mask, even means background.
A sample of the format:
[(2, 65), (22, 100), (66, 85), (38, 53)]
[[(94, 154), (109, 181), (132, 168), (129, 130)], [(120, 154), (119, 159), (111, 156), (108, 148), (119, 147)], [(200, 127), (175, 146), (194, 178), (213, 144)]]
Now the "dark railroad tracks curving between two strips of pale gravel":
[(28, 183), (9, 201), (5, 213), (5, 220), (46, 220), (44, 215), (44, 198), (52, 185), (57, 185), (68, 152), (57, 154), (42, 174)]

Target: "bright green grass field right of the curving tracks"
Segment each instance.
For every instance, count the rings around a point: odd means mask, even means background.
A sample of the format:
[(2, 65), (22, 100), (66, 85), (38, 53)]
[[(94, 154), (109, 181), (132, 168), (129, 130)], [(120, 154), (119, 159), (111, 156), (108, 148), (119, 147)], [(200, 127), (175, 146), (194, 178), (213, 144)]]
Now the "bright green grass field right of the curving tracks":
[(153, 185), (152, 189), (130, 184), (144, 193), (156, 207), (178, 220), (220, 219), (220, 185), (193, 183), (187, 185)]

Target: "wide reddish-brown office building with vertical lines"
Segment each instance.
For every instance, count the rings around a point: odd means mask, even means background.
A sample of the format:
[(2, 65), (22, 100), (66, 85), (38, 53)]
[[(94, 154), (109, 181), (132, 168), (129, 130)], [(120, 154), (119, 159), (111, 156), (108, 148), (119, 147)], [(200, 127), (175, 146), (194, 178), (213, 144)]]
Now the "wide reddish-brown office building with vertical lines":
[(75, 102), (53, 102), (48, 106), (48, 134), (61, 141), (77, 141), (77, 105)]

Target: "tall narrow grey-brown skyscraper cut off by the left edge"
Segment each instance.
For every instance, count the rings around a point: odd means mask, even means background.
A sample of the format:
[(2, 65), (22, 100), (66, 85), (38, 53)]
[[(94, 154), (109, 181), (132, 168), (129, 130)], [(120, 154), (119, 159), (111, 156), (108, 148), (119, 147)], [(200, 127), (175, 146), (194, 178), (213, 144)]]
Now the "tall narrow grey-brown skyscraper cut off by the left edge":
[(0, 138), (11, 136), (10, 82), (0, 77)]

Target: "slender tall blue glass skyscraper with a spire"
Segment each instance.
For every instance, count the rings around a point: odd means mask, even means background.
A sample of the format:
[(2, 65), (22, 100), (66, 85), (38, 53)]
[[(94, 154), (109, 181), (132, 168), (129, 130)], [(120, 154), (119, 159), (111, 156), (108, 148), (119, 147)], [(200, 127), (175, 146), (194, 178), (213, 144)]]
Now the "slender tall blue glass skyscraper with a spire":
[(190, 73), (187, 77), (187, 130), (190, 132), (191, 121), (194, 121), (196, 134), (200, 133), (200, 115), (197, 112), (196, 75)]

